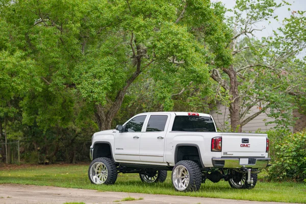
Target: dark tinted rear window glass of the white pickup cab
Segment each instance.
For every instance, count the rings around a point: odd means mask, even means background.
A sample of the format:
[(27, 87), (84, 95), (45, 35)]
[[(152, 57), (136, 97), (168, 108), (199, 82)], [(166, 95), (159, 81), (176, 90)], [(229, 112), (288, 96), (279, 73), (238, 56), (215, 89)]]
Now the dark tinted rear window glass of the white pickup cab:
[(214, 121), (205, 116), (175, 116), (172, 131), (216, 132)]

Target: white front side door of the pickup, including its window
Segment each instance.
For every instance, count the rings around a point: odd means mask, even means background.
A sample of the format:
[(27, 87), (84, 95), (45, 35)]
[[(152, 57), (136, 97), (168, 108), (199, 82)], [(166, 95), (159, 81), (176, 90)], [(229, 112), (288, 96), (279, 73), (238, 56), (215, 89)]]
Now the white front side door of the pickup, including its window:
[(139, 144), (140, 137), (146, 115), (140, 115), (132, 118), (123, 125), (123, 132), (117, 132), (115, 135), (115, 160), (118, 162), (135, 161), (139, 162)]

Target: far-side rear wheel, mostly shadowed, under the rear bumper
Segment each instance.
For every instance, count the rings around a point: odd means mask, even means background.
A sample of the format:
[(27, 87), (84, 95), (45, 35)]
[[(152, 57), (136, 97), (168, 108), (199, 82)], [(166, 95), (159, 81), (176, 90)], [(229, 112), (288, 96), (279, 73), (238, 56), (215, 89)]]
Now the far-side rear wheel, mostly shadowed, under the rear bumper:
[(230, 186), (235, 189), (252, 189), (255, 187), (257, 183), (257, 173), (251, 173), (251, 177), (253, 178), (253, 186), (251, 184), (246, 183), (247, 173), (235, 173), (235, 177), (228, 180)]

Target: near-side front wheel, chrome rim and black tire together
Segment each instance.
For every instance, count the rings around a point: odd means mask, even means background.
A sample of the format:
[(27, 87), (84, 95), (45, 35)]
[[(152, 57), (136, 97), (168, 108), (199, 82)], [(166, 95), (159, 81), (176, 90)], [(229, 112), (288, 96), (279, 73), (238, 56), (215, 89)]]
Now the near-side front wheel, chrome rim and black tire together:
[(117, 175), (114, 161), (106, 157), (96, 158), (88, 168), (88, 177), (92, 184), (114, 184)]

